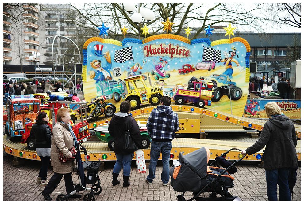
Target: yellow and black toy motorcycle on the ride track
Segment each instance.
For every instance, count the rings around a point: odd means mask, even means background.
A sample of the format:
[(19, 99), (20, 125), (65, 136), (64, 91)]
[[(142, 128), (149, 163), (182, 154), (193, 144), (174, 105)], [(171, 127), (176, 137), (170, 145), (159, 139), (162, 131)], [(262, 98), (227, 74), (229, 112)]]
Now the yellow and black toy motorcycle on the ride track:
[[(112, 103), (107, 103), (105, 96), (98, 96), (94, 101), (90, 102), (86, 108), (82, 107), (82, 115), (86, 113), (88, 121), (91, 119), (98, 118), (99, 116), (105, 115), (106, 117), (112, 117), (116, 111), (116, 107)], [(86, 111), (84, 110), (86, 109)], [(80, 108), (77, 109), (77, 113), (80, 114)]]

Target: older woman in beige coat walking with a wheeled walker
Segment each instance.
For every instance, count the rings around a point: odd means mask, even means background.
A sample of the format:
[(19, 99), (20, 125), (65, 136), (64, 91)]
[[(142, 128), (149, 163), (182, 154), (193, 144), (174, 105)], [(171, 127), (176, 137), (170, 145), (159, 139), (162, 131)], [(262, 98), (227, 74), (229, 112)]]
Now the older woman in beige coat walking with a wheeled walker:
[[(72, 153), (69, 151), (73, 148), (77, 139), (72, 133), (70, 122), (70, 110), (67, 108), (61, 108), (57, 112), (57, 122), (53, 127), (52, 131), (52, 146), (51, 146), (51, 165), (53, 166), (54, 175), (48, 182), (47, 186), (41, 192), (45, 200), (52, 200), (50, 194), (55, 190), (55, 188), (60, 183), (62, 177), (64, 176), (65, 189), (67, 194), (74, 191), (74, 185), (72, 180), (73, 168), (76, 166), (75, 161), (62, 163), (59, 159), (59, 150), (67, 158), (73, 157)], [(58, 147), (58, 149), (57, 149)], [(69, 196), (69, 198), (80, 198), (81, 195), (74, 194)]]

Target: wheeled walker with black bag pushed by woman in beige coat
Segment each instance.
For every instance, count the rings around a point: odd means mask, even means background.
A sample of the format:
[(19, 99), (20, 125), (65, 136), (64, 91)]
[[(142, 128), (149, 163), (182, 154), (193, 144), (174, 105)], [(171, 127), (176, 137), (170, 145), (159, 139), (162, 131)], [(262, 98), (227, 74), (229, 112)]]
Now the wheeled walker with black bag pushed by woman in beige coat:
[[(78, 146), (78, 145), (77, 145)], [(84, 158), (86, 161), (82, 161), (80, 157), (79, 146), (76, 148), (77, 154), (73, 155), (76, 160), (76, 167), (74, 170), (77, 170), (76, 175), (78, 175), (79, 184), (74, 184), (74, 191), (69, 194), (60, 194), (57, 196), (56, 200), (68, 200), (71, 195), (79, 191), (89, 190), (90, 193), (87, 193), (83, 196), (83, 200), (95, 200), (94, 195), (99, 195), (101, 193), (100, 179), (98, 175), (100, 161), (93, 162), (87, 160), (87, 150), (84, 147), (81, 147), (80, 150), (83, 150)], [(85, 171), (87, 171), (87, 176), (85, 176)], [(97, 184), (95, 184), (98, 182)], [(90, 188), (87, 188), (87, 184), (93, 184)]]

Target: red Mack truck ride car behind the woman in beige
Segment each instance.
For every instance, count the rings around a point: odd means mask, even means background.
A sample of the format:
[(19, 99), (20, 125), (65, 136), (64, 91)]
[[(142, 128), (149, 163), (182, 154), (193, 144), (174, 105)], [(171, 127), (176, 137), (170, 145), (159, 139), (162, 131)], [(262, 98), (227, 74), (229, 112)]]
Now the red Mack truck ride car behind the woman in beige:
[[(68, 97), (70, 98), (70, 97)], [(77, 104), (80, 107), (86, 106), (87, 102), (76, 102), (76, 101), (48, 101), (48, 103), (41, 105), (40, 108), (40, 112), (45, 112), (48, 114), (48, 116), (50, 116), (50, 119), (48, 121), (48, 125), (50, 126), (50, 128), (52, 129), (53, 126), (56, 124), (56, 115), (57, 115), (57, 111), (58, 109), (64, 107), (64, 108), (69, 108), (69, 104)], [(36, 116), (35, 116), (36, 118)], [(52, 119), (51, 119), (52, 118)], [(29, 148), (29, 150), (35, 150), (36, 146), (35, 146), (35, 140), (31, 139), (29, 137), (29, 133), (32, 129), (33, 126), (33, 122), (32, 123), (28, 123), (25, 126), (25, 133), (22, 134), (22, 139), (21, 139), (21, 143), (25, 144), (27, 143), (27, 146)], [(91, 138), (91, 134), (89, 133), (89, 126), (87, 123), (87, 120), (83, 120), (82, 118), (80, 118), (80, 122), (77, 124), (74, 124), (72, 120), (70, 120), (70, 124), (72, 125), (72, 129), (73, 132), (75, 133), (76, 137), (77, 137), (77, 141), (79, 143), (85, 142), (87, 141), (87, 139)]]

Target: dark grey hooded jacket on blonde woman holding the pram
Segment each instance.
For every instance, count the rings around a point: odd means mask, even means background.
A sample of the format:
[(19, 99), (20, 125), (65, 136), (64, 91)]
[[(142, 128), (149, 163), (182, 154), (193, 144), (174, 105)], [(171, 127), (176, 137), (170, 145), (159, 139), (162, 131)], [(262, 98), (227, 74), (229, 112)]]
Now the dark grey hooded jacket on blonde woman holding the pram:
[(296, 146), (294, 124), (287, 116), (277, 115), (264, 124), (258, 141), (248, 147), (246, 153), (251, 155), (265, 147), (262, 156), (265, 170), (295, 168), (298, 166)]

